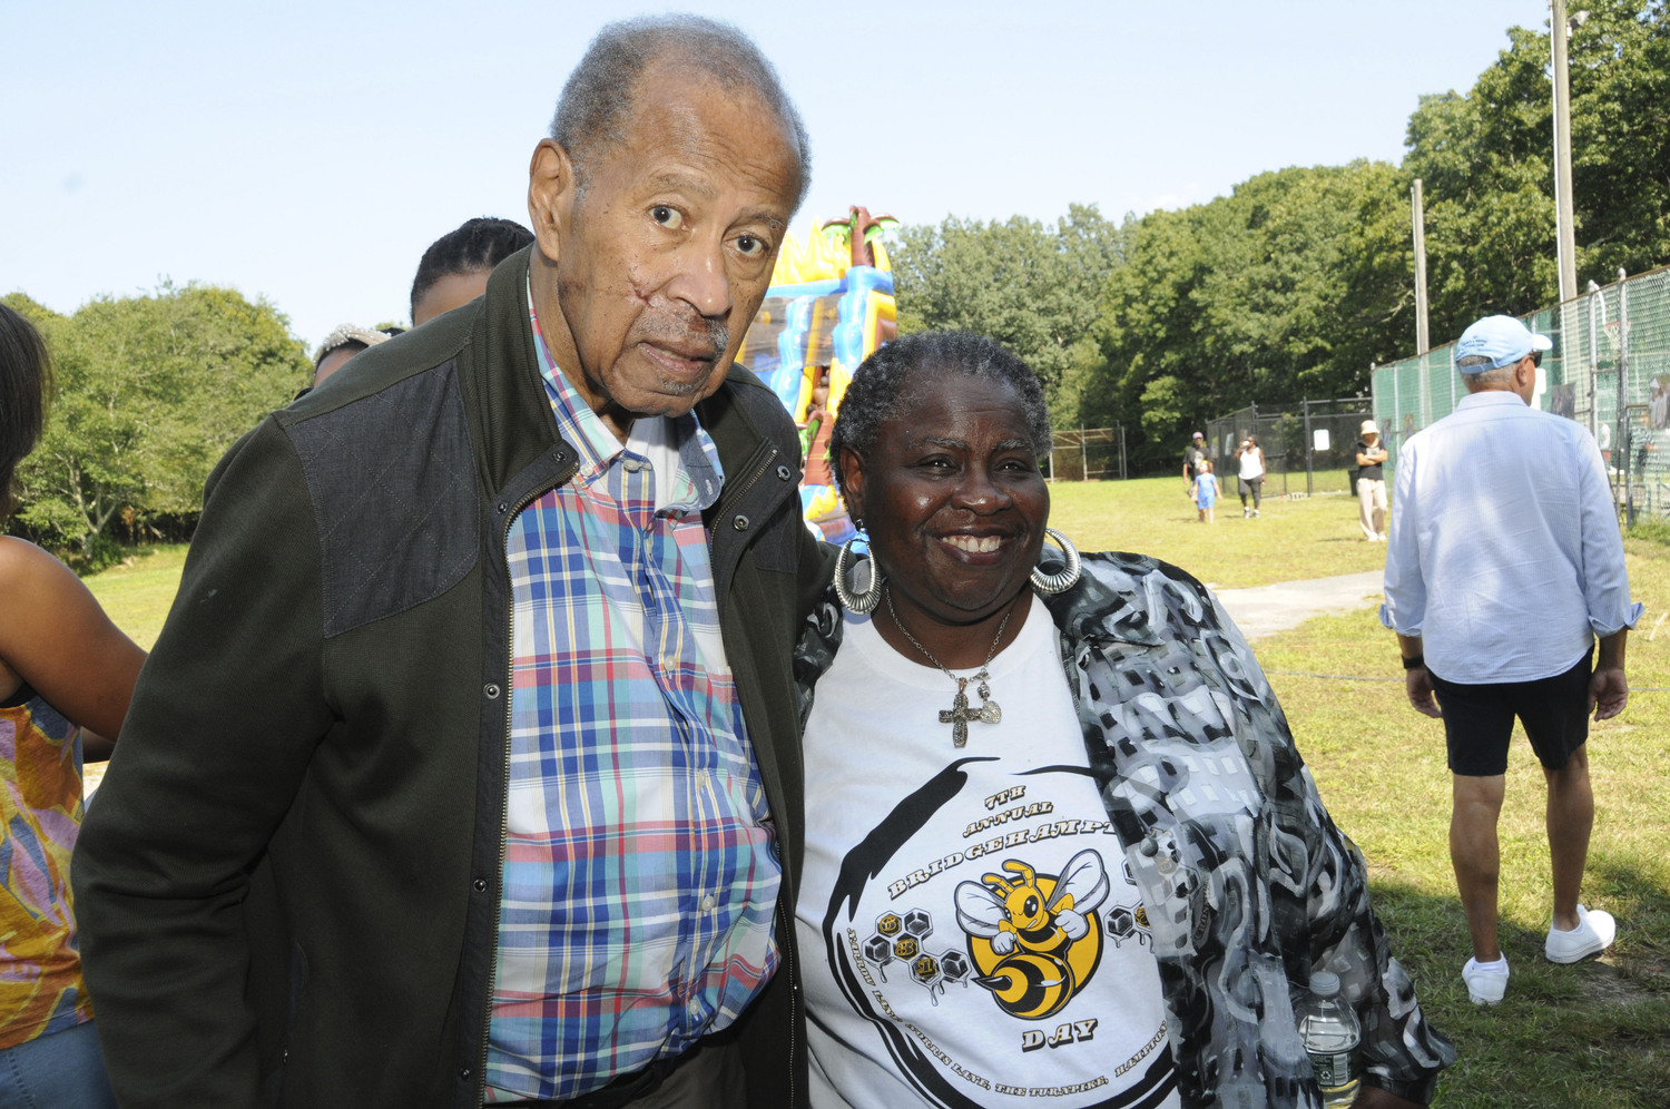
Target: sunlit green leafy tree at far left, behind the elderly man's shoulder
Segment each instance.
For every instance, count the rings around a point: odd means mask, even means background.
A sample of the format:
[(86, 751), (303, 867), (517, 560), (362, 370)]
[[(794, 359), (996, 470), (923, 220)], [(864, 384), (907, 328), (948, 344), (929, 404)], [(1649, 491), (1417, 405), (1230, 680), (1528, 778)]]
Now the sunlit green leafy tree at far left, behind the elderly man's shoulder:
[(309, 369), (286, 317), (232, 289), (165, 284), (42, 319), (57, 396), (18, 518), (84, 554), (119, 518), (195, 514), (214, 463)]

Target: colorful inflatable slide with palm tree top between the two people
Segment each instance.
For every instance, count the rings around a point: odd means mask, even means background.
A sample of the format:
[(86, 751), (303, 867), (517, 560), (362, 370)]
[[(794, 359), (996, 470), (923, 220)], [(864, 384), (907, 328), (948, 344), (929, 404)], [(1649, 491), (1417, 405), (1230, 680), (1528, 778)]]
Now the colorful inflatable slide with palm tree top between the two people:
[(853, 526), (835, 493), (828, 441), (852, 371), (897, 334), (893, 274), (877, 237), (898, 220), (863, 207), (815, 229), (805, 246), (788, 235), (772, 287), (736, 361), (777, 391), (800, 428), (807, 473), (800, 504), (830, 543)]

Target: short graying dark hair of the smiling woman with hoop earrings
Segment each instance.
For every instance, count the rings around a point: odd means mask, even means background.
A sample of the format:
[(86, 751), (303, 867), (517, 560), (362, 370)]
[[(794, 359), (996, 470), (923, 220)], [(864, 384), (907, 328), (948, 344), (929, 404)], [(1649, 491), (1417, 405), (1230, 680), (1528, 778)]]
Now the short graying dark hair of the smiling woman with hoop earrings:
[(1015, 391), (1032, 449), (1042, 459), (1050, 449), (1049, 406), (1032, 367), (995, 339), (969, 331), (918, 331), (878, 347), (853, 371), (842, 396), (830, 436), (830, 466), (842, 484), (842, 451), (870, 458), (882, 424), (898, 414), (905, 387), (918, 374), (994, 381)]

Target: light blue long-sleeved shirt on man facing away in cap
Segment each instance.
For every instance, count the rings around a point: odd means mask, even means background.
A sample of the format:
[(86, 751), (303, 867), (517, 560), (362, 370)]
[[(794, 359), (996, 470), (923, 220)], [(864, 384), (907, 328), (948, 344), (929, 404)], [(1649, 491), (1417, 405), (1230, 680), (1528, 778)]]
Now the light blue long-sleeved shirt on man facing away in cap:
[(1490, 389), (1398, 451), (1379, 620), (1450, 681), (1533, 681), (1633, 628), (1595, 438)]

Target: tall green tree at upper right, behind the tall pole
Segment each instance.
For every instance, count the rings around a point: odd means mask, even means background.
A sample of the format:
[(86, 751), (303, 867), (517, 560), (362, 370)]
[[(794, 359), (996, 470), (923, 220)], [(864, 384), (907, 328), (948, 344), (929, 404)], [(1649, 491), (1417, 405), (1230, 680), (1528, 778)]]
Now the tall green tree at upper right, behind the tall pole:
[[(1670, 25), (1663, 0), (1595, 0), (1570, 37), (1578, 282), (1670, 262)], [(1426, 194), (1435, 341), (1558, 297), (1546, 30), (1515, 27), (1466, 95), (1423, 97), (1403, 167)]]

